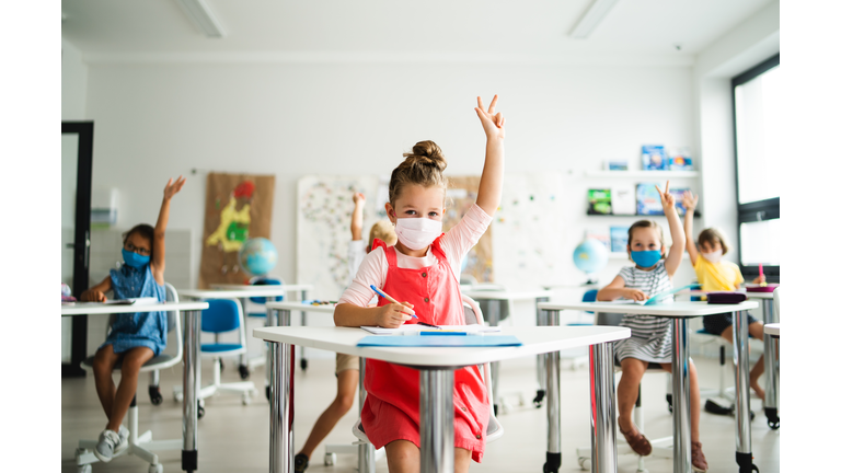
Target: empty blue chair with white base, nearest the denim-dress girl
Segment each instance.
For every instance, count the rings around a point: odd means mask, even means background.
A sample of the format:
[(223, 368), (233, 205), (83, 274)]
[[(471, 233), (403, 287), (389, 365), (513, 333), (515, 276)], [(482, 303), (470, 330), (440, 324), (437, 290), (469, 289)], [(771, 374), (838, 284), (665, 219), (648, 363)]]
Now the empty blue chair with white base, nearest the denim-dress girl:
[[(251, 404), (251, 396), (256, 394), (257, 390), (251, 381), (241, 381), (232, 383), (222, 383), (221, 380), (221, 359), (223, 356), (238, 356), (244, 354), (247, 349), (245, 328), (242, 316), (242, 304), (238, 299), (209, 299), (210, 305), (201, 311), (201, 332), (209, 332), (216, 335), (216, 343), (201, 344), (201, 357), (214, 360), (214, 382), (201, 388), (198, 392), (198, 399), (205, 400), (218, 392), (239, 393), (242, 396), (242, 404)], [(227, 332), (237, 332), (239, 339), (237, 343), (219, 343), (219, 335)], [(175, 400), (184, 400), (183, 387), (173, 388)], [(203, 411), (204, 406), (199, 411)]]

